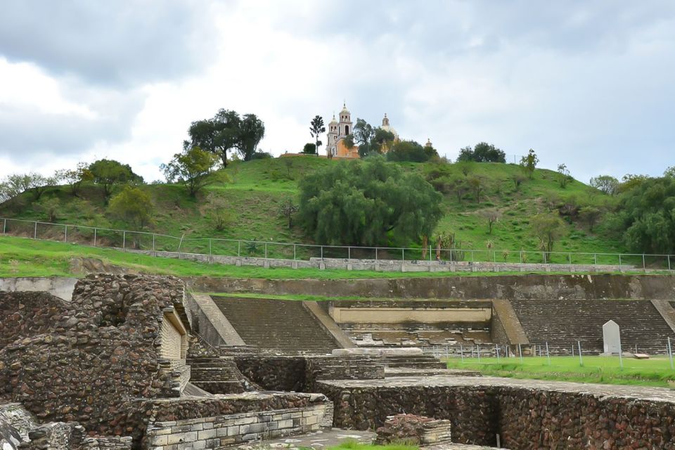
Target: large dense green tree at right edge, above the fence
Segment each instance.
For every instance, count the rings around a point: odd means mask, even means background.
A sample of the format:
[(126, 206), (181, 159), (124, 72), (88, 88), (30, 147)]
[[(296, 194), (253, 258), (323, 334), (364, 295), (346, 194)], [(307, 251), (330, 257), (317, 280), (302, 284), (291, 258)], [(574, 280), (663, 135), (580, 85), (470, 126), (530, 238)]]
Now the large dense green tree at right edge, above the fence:
[(619, 204), (624, 241), (636, 252), (675, 253), (675, 179), (645, 179)]

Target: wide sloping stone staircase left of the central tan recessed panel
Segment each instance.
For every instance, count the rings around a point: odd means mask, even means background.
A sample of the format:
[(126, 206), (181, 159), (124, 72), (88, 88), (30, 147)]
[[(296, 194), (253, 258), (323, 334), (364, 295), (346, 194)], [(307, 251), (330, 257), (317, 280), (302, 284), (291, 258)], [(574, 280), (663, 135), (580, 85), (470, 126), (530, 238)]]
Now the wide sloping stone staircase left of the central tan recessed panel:
[(302, 302), (214, 297), (249, 346), (278, 354), (327, 354), (340, 347)]

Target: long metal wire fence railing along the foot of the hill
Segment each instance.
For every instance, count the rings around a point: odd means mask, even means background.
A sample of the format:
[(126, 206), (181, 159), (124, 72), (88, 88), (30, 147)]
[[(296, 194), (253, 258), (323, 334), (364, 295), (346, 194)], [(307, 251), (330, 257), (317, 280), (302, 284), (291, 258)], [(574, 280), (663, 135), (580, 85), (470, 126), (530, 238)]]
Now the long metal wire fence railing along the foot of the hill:
[(57, 240), (101, 248), (176, 252), (225, 257), (264, 259), (338, 258), (347, 260), (467, 262), (503, 264), (577, 264), (618, 266), (619, 270), (675, 270), (675, 255), (601, 252), (544, 252), (541, 250), (475, 250), (471, 248), (359, 247), (312, 245), (266, 240), (186, 238), (149, 231), (108, 229), (98, 226), (54, 224), (51, 222), (0, 217), (2, 236)]

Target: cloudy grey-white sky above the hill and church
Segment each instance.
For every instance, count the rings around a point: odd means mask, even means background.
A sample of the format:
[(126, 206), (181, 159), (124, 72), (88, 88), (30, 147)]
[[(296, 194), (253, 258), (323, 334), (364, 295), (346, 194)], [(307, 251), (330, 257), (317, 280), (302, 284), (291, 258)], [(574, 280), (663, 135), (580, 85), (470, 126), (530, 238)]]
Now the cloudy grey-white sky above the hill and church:
[[(114, 158), (146, 181), (219, 108), (295, 152), (342, 108), (442, 155), (572, 175), (675, 165), (675, 2), (0, 0), (0, 178)], [(325, 141), (325, 139), (324, 139)], [(513, 158), (511, 156), (510, 158)]]

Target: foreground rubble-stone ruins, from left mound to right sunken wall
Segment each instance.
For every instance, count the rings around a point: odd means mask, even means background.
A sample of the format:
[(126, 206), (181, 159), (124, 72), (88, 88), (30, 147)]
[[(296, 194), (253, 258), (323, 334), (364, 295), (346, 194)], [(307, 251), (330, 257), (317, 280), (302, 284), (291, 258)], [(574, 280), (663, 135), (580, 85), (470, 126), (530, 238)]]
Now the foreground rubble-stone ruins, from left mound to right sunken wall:
[(2, 450), (221, 449), (331, 426), (424, 446), (452, 429), (459, 444), (432, 449), (675, 450), (666, 389), (469, 376), (414, 350), (275, 354), (203, 338), (194, 304), (172, 277), (0, 293)]

